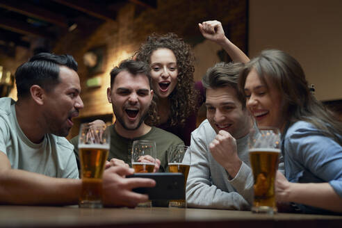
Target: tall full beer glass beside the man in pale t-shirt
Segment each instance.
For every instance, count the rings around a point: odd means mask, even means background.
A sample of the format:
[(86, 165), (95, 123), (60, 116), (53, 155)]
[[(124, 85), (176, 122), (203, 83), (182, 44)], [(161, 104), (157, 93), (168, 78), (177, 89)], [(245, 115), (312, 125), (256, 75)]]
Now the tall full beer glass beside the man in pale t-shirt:
[(105, 124), (81, 124), (79, 157), (82, 190), (79, 206), (82, 208), (102, 207), (102, 175), (108, 157), (110, 138)]

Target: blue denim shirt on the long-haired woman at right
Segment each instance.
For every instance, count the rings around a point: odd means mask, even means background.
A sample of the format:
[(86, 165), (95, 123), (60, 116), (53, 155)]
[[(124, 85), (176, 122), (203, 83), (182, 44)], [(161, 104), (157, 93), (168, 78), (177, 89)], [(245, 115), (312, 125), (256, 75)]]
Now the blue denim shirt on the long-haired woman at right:
[[(342, 139), (342, 136), (336, 136)], [(285, 176), (295, 183), (329, 183), (342, 198), (342, 146), (309, 122), (299, 121), (282, 138)], [(298, 205), (304, 213), (322, 209)]]

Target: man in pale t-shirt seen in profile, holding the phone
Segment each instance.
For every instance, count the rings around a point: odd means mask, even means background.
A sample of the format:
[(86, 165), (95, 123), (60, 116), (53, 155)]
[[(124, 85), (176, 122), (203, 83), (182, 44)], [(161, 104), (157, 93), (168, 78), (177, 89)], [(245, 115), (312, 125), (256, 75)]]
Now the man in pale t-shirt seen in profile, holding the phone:
[[(0, 204), (77, 204), (81, 193), (74, 147), (64, 138), (83, 101), (72, 56), (42, 53), (18, 67), (17, 97), (0, 99)], [(124, 179), (133, 170), (104, 172), (104, 204), (136, 206), (151, 179)]]

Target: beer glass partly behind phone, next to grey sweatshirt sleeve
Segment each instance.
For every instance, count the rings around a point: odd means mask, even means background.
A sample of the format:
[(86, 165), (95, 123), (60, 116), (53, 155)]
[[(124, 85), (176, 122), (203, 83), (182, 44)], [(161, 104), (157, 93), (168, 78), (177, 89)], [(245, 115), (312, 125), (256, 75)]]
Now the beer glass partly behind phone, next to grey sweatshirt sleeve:
[[(186, 191), (186, 179), (191, 165), (190, 149), (184, 145), (172, 145), (169, 149), (168, 166), (170, 172), (181, 172), (184, 174), (184, 195)], [(188, 153), (186, 154), (186, 151)], [(185, 156), (186, 155), (186, 156)], [(169, 201), (170, 207), (186, 207), (186, 199), (177, 199)]]

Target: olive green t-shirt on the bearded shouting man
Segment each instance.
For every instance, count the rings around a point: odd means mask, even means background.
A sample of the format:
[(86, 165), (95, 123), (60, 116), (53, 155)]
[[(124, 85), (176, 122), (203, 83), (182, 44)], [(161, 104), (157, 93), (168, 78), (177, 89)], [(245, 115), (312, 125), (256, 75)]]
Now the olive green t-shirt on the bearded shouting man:
[[(158, 172), (166, 172), (168, 169), (168, 149), (171, 145), (184, 145), (184, 142), (175, 136), (173, 133), (164, 131), (157, 127), (138, 138), (124, 138), (116, 131), (114, 124), (109, 127), (111, 132), (111, 149), (109, 150), (108, 161), (111, 158), (117, 158), (131, 166), (131, 149), (134, 140), (154, 140), (156, 142), (156, 158), (161, 161), (161, 167)], [(74, 145), (74, 153), (79, 166), (79, 149), (77, 147), (78, 136), (72, 138), (71, 142)], [(80, 166), (79, 166), (80, 169)]]

